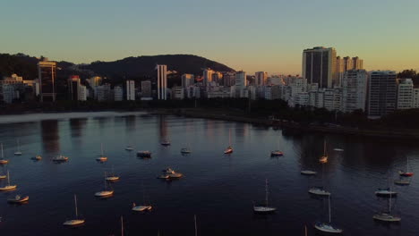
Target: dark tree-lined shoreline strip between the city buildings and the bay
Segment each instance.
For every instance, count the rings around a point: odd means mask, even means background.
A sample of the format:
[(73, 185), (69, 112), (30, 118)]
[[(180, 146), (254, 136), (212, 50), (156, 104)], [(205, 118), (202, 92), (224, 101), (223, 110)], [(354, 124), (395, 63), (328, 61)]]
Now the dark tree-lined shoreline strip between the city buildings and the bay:
[[(272, 120), (263, 117), (252, 117), (243, 112), (232, 112), (223, 109), (204, 109), (204, 108), (136, 108), (136, 109), (103, 109), (90, 111), (26, 111), (21, 113), (0, 114), (2, 117), (15, 115), (31, 115), (31, 114), (99, 114), (99, 113), (124, 113), (124, 114), (173, 114), (177, 116), (185, 116), (192, 118), (202, 118), (211, 120), (221, 120), (229, 122), (247, 122), (256, 125), (263, 125), (281, 129), (289, 133), (301, 132), (316, 132), (316, 133), (331, 133), (349, 135), (355, 137), (370, 137), (370, 138), (384, 138), (384, 139), (419, 139), (419, 130), (404, 130), (404, 129), (389, 129), (383, 127), (379, 129), (359, 129), (354, 127), (340, 126), (340, 125), (321, 125), (321, 124), (302, 124), (298, 122), (290, 122), (285, 120)], [(84, 116), (83, 116), (84, 117)], [(89, 116), (90, 117), (90, 116)], [(63, 118), (82, 118), (77, 115), (70, 117), (56, 117), (49, 119), (63, 119)], [(47, 119), (47, 118), (46, 118)], [(30, 119), (30, 121), (33, 121)], [(30, 122), (29, 121), (29, 122)], [(25, 121), (22, 121), (25, 122)], [(7, 123), (1, 122), (0, 123)]]

